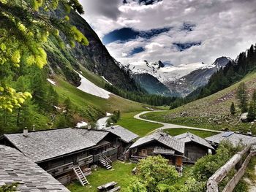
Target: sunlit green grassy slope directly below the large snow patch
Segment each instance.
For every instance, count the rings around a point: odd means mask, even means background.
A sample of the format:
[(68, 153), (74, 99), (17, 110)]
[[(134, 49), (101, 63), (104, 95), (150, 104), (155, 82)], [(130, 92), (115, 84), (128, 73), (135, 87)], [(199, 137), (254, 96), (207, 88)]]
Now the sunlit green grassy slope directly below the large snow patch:
[(55, 80), (57, 82), (55, 88), (59, 93), (60, 100), (64, 101), (64, 99), (69, 97), (76, 110), (86, 120), (95, 121), (97, 118), (104, 116), (105, 112), (113, 112), (114, 110), (120, 110), (121, 113), (145, 110), (143, 104), (135, 101), (129, 101), (119, 96), (110, 96), (110, 99), (102, 99), (80, 91), (60, 77), (56, 77)]

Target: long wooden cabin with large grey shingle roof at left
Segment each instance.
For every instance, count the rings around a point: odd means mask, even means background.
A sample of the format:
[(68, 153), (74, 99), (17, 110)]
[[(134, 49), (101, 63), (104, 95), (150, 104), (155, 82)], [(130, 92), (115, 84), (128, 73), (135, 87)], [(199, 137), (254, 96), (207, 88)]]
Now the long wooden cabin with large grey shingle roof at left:
[(76, 179), (73, 167), (80, 166), (83, 173), (89, 175), (89, 167), (99, 164), (100, 155), (116, 161), (119, 148), (127, 145), (122, 142), (121, 137), (110, 131), (83, 128), (4, 134), (0, 144), (20, 150), (63, 184)]

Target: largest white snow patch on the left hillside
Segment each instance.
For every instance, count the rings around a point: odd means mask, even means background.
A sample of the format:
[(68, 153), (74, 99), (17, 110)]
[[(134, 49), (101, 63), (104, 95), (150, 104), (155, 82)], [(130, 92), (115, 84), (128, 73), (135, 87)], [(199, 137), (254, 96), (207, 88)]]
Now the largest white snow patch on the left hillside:
[[(77, 72), (78, 73), (78, 72)], [(110, 97), (110, 92), (105, 91), (105, 89), (99, 88), (97, 85), (95, 85), (93, 82), (86, 79), (86, 77), (83, 77), (80, 73), (79, 77), (81, 78), (81, 85), (78, 86), (78, 89), (80, 89), (83, 92), (89, 93), (94, 96), (99, 96), (103, 99), (108, 99)]]

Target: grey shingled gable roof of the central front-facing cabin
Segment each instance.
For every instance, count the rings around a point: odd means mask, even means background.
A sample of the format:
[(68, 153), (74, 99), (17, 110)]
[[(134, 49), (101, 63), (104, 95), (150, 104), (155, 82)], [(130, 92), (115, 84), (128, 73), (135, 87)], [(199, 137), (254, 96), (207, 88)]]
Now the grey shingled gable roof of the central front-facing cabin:
[(153, 142), (153, 141), (159, 142), (162, 145), (170, 147), (171, 149), (184, 154), (184, 148), (185, 148), (184, 142), (181, 142), (178, 139), (171, 137), (170, 135), (165, 134), (162, 131), (157, 131), (154, 134), (150, 134), (148, 136), (141, 137), (134, 144), (132, 144), (132, 146), (129, 148), (132, 149), (132, 148), (138, 147), (140, 145), (145, 145), (145, 144), (147, 144), (149, 142)]

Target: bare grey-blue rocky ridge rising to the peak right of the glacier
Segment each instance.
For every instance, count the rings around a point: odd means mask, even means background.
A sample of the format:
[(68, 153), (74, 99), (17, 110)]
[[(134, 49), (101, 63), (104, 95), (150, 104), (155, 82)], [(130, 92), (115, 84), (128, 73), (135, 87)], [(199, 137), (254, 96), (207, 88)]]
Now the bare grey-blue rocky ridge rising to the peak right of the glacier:
[(217, 58), (216, 61), (214, 61), (214, 64), (211, 64), (206, 68), (192, 71), (176, 81), (166, 82), (165, 85), (170, 90), (176, 90), (181, 96), (187, 96), (197, 88), (206, 85), (211, 75), (225, 67), (229, 61), (232, 60), (227, 57)]

